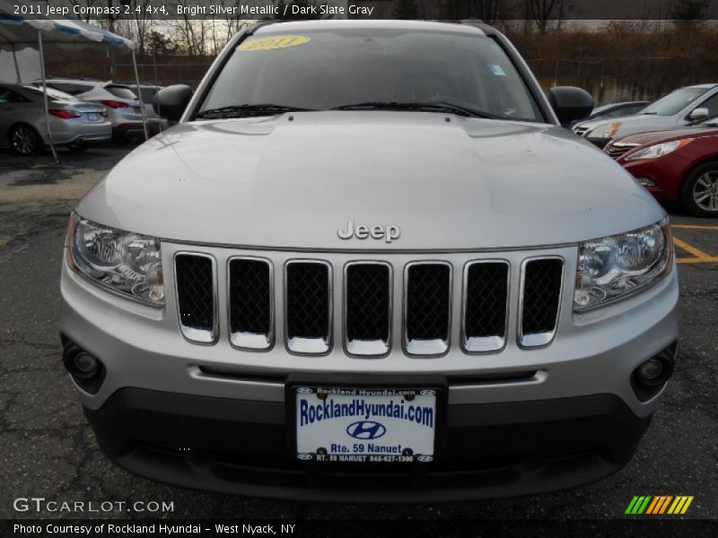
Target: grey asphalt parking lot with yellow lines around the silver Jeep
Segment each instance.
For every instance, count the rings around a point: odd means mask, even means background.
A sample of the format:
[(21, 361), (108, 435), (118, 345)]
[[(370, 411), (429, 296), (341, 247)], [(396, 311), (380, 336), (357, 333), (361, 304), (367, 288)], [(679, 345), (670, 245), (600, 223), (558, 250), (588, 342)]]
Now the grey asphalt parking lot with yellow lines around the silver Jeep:
[(30, 167), (0, 152), (0, 517), (83, 516), (13, 509), (13, 499), (44, 497), (173, 501), (171, 514), (133, 517), (613, 518), (634, 495), (667, 494), (695, 496), (685, 517), (718, 518), (718, 220), (671, 208), (682, 295), (677, 372), (637, 455), (606, 480), (519, 499), (367, 509), (183, 490), (109, 463), (62, 367), (58, 274), (74, 200), (130, 149), (62, 152), (60, 165), (45, 155)]

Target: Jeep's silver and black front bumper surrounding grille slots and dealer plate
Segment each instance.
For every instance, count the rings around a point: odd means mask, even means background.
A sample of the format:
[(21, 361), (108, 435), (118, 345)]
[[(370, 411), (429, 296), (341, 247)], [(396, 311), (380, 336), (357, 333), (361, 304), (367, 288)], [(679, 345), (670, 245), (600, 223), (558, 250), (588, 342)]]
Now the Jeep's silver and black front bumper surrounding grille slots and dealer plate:
[[(171, 266), (181, 249), (163, 243), (163, 264)], [(223, 247), (203, 250), (217, 258), (220, 268), (235, 254)], [(299, 357), (283, 345), (265, 352), (236, 350), (225, 325), (217, 343), (197, 345), (180, 334), (171, 272), (165, 275), (166, 307), (151, 308), (102, 290), (66, 264), (60, 330), (106, 368), (96, 394), (80, 390), (102, 449), (144, 476), (188, 487), (302, 499), (460, 499), (556, 490), (613, 473), (634, 453), (659, 396), (641, 402), (631, 374), (678, 339), (679, 289), (674, 267), (640, 294), (577, 315), (572, 311), (576, 247), (552, 247), (546, 253), (564, 257), (564, 288), (569, 292), (562, 297), (556, 340), (541, 349), (523, 350), (510, 340), (502, 351), (486, 355), (467, 355), (453, 345), (441, 358), (416, 359), (405, 356), (397, 341), (383, 359), (353, 359), (341, 346), (326, 356)], [(279, 251), (243, 254), (271, 257), (278, 267), (294, 256)], [(342, 266), (372, 255), (325, 256)], [(477, 255), (425, 256), (441, 256), (461, 267)], [(512, 266), (523, 256), (502, 253)], [(391, 255), (397, 266), (413, 257)], [(219, 281), (225, 281), (223, 273)], [(518, 290), (518, 282), (512, 282), (511, 304), (518, 301)], [(335, 299), (339, 310), (340, 294)], [(223, 293), (219, 300), (220, 310), (226, 311)], [(457, 318), (460, 298), (453, 304)], [(398, 326), (400, 312), (396, 316)], [(336, 334), (341, 334), (341, 318), (335, 323)], [(277, 329), (282, 331), (281, 324)], [(452, 342), (458, 342), (458, 327), (452, 331)], [(516, 334), (515, 317), (508, 334)], [(347, 384), (359, 374), (401, 376), (407, 384), (419, 375), (442, 376), (448, 386), (443, 455), (424, 471), (363, 466), (318, 471), (295, 461), (287, 448), (286, 378), (301, 373), (305, 379), (320, 379), (327, 372)], [(180, 451), (183, 447), (189, 450)], [(320, 485), (313, 482), (317, 473), (323, 476)], [(424, 475), (420, 487), (411, 482), (416, 473)], [(343, 485), (371, 482), (372, 477), (377, 481), (373, 489), (366, 483)]]

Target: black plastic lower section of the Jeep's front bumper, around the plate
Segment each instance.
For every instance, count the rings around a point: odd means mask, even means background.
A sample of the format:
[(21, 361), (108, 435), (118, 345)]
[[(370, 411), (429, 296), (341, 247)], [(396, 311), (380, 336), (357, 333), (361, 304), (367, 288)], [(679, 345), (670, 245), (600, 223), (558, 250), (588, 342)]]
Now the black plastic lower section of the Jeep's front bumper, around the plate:
[(431, 464), (322, 466), (288, 453), (283, 403), (124, 388), (85, 415), (110, 459), (153, 480), (353, 502), (496, 498), (592, 482), (631, 459), (651, 420), (614, 395), (450, 405), (446, 449)]

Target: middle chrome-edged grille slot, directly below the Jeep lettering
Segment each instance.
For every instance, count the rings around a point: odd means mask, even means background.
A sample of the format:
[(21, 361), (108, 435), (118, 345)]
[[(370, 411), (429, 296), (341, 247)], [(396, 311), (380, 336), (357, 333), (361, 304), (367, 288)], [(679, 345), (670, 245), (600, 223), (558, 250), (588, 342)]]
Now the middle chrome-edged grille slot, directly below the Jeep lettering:
[(353, 262), (344, 273), (345, 347), (350, 355), (382, 356), (391, 342), (391, 268)]

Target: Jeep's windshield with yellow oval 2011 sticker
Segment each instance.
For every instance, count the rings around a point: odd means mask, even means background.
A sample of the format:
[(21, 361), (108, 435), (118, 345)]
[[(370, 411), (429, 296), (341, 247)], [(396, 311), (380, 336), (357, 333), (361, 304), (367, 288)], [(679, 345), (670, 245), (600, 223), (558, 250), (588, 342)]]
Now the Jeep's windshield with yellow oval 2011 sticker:
[(327, 110), (429, 102), (543, 121), (521, 76), (492, 39), (365, 28), (250, 37), (234, 50), (200, 112), (269, 103)]

